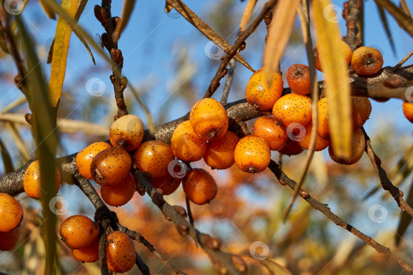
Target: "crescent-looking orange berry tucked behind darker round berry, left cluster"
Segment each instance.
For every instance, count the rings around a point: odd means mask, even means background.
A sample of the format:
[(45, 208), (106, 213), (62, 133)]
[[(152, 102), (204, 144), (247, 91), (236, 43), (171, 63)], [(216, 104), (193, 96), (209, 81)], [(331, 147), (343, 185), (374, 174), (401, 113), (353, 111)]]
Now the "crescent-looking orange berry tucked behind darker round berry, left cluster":
[(93, 158), (101, 151), (111, 148), (112, 146), (106, 142), (95, 142), (86, 147), (85, 149), (79, 151), (76, 155), (76, 166), (78, 167), (79, 173), (87, 179), (93, 179), (90, 174), (90, 164)]

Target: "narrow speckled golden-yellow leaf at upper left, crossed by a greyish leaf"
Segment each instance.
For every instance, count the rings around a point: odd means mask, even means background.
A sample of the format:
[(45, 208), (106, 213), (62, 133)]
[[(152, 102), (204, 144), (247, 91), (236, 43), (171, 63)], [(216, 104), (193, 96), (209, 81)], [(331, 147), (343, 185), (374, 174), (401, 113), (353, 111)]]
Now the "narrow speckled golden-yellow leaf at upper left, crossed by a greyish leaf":
[[(62, 9), (74, 18), (77, 0), (63, 0)], [(53, 57), (51, 58), (51, 73), (49, 81), (49, 101), (50, 105), (57, 107), (60, 95), (62, 94), (63, 80), (66, 72), (66, 59), (69, 50), (70, 35), (72, 28), (59, 16), (56, 26), (56, 36), (53, 44)]]

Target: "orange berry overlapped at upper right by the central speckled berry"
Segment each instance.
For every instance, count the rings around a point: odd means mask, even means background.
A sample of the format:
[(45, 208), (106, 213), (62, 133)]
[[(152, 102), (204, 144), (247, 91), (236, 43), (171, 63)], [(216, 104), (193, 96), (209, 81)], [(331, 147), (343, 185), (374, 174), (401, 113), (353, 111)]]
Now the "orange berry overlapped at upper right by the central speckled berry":
[(191, 122), (187, 120), (173, 131), (171, 147), (177, 159), (192, 162), (203, 157), (207, 150), (207, 141), (194, 132)]

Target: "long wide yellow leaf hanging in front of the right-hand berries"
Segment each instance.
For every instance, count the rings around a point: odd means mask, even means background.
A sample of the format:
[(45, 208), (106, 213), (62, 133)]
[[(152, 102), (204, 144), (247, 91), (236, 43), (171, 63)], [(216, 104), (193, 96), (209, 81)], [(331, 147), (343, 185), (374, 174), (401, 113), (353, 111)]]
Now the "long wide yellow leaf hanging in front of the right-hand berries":
[(337, 22), (324, 17), (329, 0), (312, 1), (312, 17), (318, 39), (318, 53), (325, 73), (325, 94), (328, 100), (331, 146), (336, 157), (351, 157), (353, 125), (351, 121), (350, 82), (341, 34)]

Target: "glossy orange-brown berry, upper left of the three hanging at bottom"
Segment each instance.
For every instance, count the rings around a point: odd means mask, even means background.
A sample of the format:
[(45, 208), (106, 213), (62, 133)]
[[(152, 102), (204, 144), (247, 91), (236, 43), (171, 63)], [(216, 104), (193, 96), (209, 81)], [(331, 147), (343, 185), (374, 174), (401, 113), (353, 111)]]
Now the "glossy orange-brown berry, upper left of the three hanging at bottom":
[(90, 218), (73, 215), (60, 225), (60, 236), (71, 249), (82, 249), (99, 236), (99, 227)]

